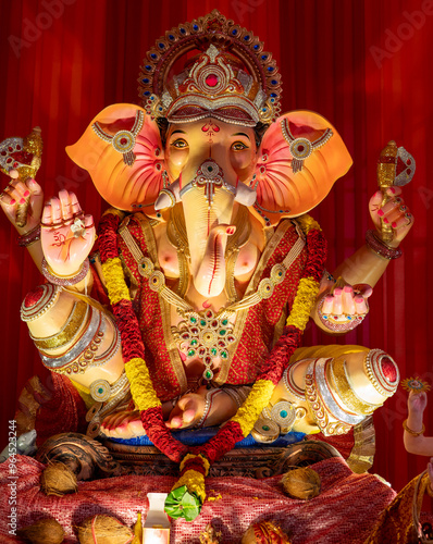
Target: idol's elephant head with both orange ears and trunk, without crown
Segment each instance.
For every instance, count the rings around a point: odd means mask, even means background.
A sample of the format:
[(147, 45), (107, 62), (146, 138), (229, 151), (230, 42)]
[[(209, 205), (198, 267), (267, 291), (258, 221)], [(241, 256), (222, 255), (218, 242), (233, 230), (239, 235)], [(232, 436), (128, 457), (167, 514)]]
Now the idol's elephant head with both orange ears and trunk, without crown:
[(308, 111), (277, 119), (260, 147), (255, 128), (212, 116), (171, 124), (164, 139), (143, 109), (116, 104), (67, 152), (111, 206), (163, 221), (161, 210), (181, 203), (191, 277), (206, 297), (224, 288), (236, 206), (276, 225), (314, 208), (351, 164), (335, 128)]

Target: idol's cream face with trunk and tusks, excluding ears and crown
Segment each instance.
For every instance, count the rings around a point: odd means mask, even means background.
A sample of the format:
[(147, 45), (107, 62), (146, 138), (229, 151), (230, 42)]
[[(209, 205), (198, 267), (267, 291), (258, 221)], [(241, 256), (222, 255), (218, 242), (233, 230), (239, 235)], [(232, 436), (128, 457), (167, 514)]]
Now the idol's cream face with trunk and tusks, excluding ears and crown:
[(235, 202), (252, 206), (249, 188), (257, 159), (252, 128), (213, 119), (169, 128), (165, 166), (175, 182), (162, 189), (156, 209), (182, 202), (196, 289), (218, 296), (225, 284), (225, 246), (234, 234)]

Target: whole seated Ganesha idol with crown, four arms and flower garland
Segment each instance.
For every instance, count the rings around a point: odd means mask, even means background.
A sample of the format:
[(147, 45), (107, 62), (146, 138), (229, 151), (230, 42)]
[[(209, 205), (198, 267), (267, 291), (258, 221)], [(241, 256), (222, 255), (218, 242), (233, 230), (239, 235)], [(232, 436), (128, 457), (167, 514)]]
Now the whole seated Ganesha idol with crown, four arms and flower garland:
[[(308, 212), (351, 159), (321, 115), (281, 115), (281, 92), (263, 42), (218, 11), (157, 40), (143, 107), (106, 108), (66, 149), (111, 206), (97, 242), (74, 194), (42, 207), (2, 157), (2, 209), (47, 279), (21, 310), (42, 363), (85, 399), (89, 436), (147, 435), (184, 475), (250, 433), (348, 433), (399, 382), (381, 349), (300, 344), (309, 319), (337, 335), (362, 322), (413, 223), (394, 183), (411, 161), (389, 143), (366, 245), (327, 272)], [(194, 450), (173, 433), (216, 425)]]

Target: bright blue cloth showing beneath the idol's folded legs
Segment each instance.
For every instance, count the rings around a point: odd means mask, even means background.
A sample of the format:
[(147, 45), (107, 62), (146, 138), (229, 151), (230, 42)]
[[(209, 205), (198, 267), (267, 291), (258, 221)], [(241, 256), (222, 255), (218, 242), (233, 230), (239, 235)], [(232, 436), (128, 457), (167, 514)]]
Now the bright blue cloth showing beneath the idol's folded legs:
[[(173, 432), (173, 436), (177, 438), (182, 444), (186, 444), (187, 446), (200, 446), (208, 442), (212, 436), (216, 434), (219, 429), (216, 426), (210, 426), (207, 429), (199, 429), (198, 431), (175, 431)], [(284, 436), (280, 436), (272, 444), (265, 444), (267, 447), (284, 447), (288, 444), (295, 444), (296, 442), (300, 442), (304, 438), (304, 433), (287, 433)], [(116, 444), (126, 444), (129, 446), (152, 446), (153, 444), (147, 436), (136, 436), (135, 438), (123, 440), (123, 438), (110, 438), (111, 442), (115, 442)], [(238, 442), (235, 445), (236, 447), (257, 447), (263, 446), (261, 442), (255, 441), (255, 438), (249, 434), (246, 438)]]

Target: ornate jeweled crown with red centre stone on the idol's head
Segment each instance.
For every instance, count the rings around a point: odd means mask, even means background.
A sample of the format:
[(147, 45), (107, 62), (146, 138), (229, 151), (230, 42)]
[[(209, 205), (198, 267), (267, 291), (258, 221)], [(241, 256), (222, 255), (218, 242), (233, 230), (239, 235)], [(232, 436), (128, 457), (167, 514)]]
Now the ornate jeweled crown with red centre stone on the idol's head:
[(271, 53), (218, 10), (158, 39), (138, 82), (146, 111), (170, 123), (212, 115), (256, 126), (280, 113), (281, 75)]

